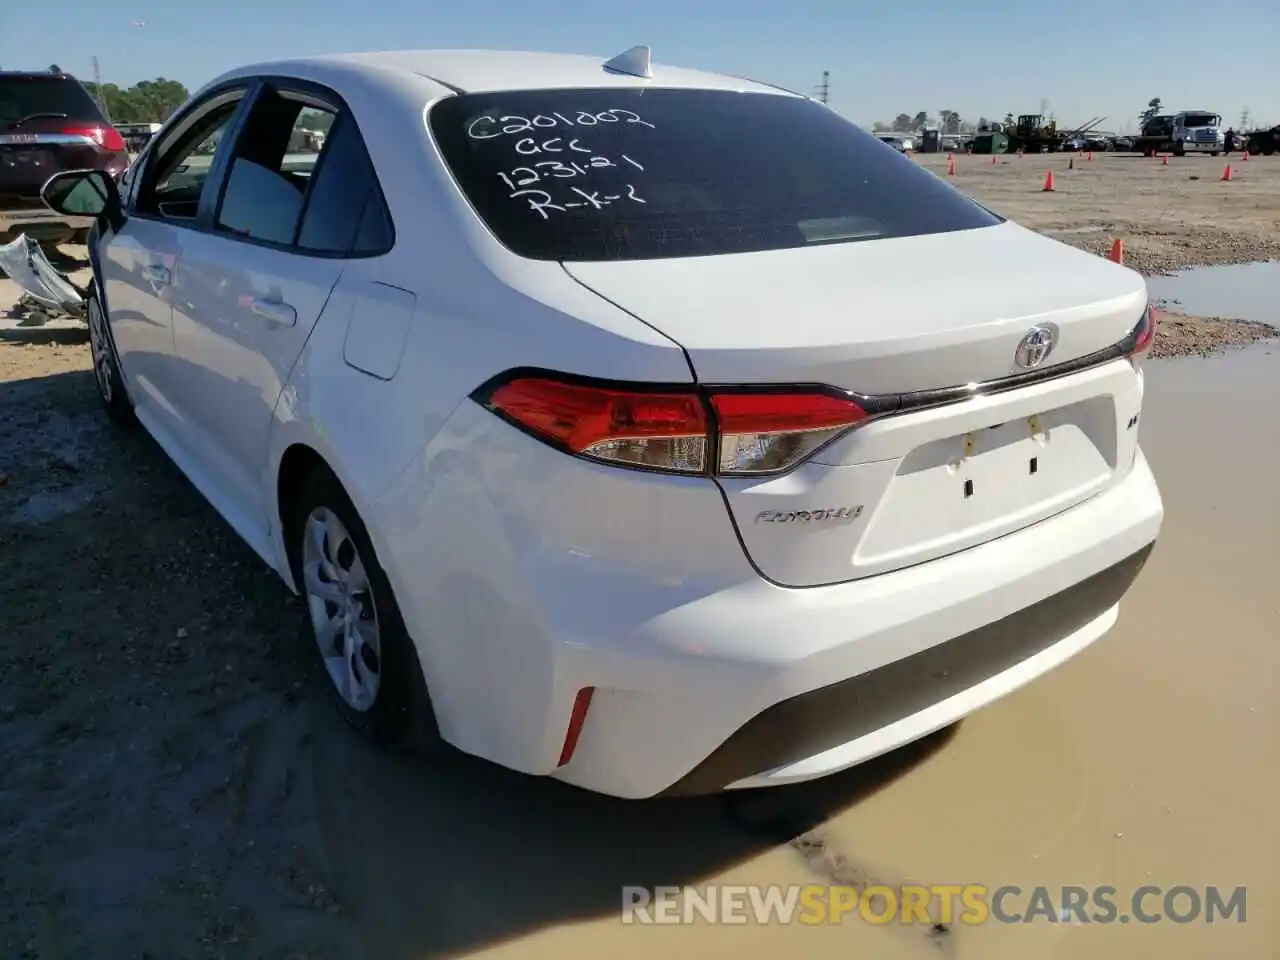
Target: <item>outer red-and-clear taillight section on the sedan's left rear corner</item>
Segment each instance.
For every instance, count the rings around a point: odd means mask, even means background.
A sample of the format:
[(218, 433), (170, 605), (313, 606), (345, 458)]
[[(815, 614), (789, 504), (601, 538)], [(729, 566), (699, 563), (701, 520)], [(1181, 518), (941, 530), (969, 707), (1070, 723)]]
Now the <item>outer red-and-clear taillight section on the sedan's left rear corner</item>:
[(707, 470), (707, 413), (694, 393), (511, 380), (488, 406), (573, 453), (653, 470)]

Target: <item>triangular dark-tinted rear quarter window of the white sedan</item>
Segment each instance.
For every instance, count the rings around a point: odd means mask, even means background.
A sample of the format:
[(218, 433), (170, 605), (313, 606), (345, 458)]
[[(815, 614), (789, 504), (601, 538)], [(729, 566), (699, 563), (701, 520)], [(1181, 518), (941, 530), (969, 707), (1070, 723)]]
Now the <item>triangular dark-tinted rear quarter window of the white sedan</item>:
[(329, 133), (297, 244), (321, 253), (383, 253), (390, 248), (374, 163), (349, 115), (344, 114)]

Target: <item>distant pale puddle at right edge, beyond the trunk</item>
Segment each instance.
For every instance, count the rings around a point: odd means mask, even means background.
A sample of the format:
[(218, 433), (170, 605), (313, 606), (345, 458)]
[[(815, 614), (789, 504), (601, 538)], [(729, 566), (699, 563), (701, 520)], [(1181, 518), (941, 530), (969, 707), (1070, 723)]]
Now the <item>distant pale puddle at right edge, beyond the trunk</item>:
[(1147, 289), (1161, 307), (1178, 314), (1280, 326), (1280, 260), (1148, 276)]

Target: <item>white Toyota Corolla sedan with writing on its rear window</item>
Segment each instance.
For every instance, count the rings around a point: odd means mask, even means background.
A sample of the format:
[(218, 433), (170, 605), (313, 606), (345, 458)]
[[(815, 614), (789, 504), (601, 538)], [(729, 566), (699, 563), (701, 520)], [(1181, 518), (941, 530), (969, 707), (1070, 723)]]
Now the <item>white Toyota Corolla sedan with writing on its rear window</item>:
[(246, 67), (45, 198), (99, 216), (108, 411), (375, 739), (623, 797), (819, 777), (1097, 640), (1160, 531), (1138, 274), (645, 47)]

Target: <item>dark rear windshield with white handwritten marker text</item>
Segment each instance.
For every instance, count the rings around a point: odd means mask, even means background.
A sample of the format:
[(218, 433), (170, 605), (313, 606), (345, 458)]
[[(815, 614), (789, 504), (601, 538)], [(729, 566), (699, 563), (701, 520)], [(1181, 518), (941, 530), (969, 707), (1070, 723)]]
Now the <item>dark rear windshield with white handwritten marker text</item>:
[(534, 260), (742, 253), (989, 227), (826, 106), (704, 90), (468, 93), (431, 132), (498, 239)]

